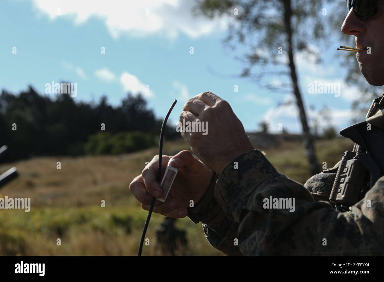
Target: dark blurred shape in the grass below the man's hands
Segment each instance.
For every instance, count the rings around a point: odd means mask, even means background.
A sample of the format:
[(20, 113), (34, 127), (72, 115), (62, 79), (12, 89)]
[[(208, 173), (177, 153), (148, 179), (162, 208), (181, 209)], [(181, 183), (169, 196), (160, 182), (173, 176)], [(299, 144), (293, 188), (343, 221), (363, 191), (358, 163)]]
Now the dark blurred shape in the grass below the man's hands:
[(187, 237), (185, 231), (175, 227), (175, 218), (165, 218), (156, 228), (157, 244), (162, 255), (185, 255)]

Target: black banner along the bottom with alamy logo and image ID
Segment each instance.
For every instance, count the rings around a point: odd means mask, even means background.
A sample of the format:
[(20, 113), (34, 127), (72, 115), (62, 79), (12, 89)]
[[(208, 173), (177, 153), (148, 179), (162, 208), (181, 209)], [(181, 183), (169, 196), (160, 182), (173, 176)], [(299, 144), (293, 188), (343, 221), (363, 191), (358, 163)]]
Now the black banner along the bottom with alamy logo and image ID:
[[(102, 277), (111, 279), (121, 275), (128, 279), (139, 276), (144, 279), (168, 277), (171, 280), (184, 280), (192, 276), (200, 280), (202, 274), (213, 275), (215, 280), (223, 275), (235, 275), (241, 279), (245, 274), (252, 275), (250, 277), (255, 280), (265, 276), (275, 280), (276, 277), (303, 275), (337, 279), (355, 276), (364, 279), (367, 275), (382, 273), (382, 257), (379, 256), (2, 256), (1, 277), (42, 277), (42, 271), (15, 273), (21, 272), (22, 264), (23, 272), (33, 268), (42, 270), (44, 264), (44, 277), (86, 277), (88, 280), (93, 277), (98, 280)], [(41, 264), (41, 267), (38, 268), (37, 264)], [(184, 275), (180, 276), (180, 272)]]

